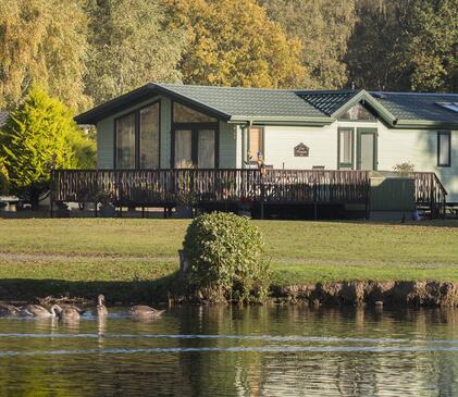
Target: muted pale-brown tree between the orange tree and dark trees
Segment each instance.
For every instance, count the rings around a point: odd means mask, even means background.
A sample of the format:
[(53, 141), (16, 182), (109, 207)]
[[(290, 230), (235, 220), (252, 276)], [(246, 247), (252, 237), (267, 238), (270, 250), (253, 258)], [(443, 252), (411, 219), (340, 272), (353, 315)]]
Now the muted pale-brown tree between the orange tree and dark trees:
[(302, 42), (300, 63), (305, 88), (342, 88), (347, 82), (344, 63), (356, 22), (355, 0), (260, 0), (288, 37)]

